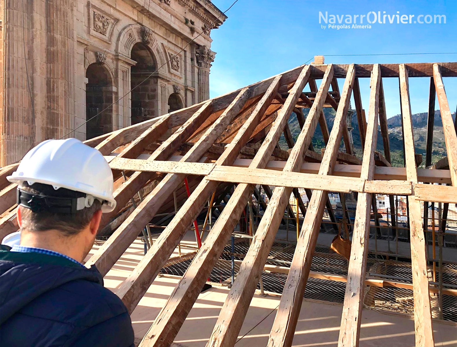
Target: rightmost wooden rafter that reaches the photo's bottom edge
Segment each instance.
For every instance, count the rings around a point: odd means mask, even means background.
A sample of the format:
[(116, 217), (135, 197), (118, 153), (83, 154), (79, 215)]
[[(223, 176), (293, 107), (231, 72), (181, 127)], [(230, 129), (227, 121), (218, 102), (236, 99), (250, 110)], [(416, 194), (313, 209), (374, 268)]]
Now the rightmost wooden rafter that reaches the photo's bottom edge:
[[(414, 158), (413, 125), (411, 120), (411, 105), (409, 101), (408, 70), (400, 64), (400, 96), (404, 127), (404, 148), (406, 175), (409, 181), (418, 182)], [(438, 90), (439, 88), (437, 88)], [(444, 125), (444, 124), (443, 124)], [(452, 124), (453, 130), (453, 124)], [(455, 136), (455, 131), (454, 131)], [(456, 182), (457, 183), (457, 182)], [(414, 295), (414, 331), (416, 347), (434, 346), (433, 329), (431, 325), (431, 307), (428, 291), (427, 259), (425, 257), (425, 238), (422, 226), (420, 202), (413, 195), (408, 196), (411, 267), (413, 273)]]

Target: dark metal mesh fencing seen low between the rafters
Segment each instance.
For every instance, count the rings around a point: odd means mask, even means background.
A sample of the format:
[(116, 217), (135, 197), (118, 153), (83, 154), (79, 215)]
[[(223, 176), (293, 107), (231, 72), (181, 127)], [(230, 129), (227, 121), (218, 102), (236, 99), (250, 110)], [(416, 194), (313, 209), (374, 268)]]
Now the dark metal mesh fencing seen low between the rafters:
[[(223, 254), (213, 268), (209, 277), (211, 282), (220, 283), (229, 286), (232, 276), (232, 256), (233, 256), (233, 274), (239, 271), (239, 266), (244, 259), (250, 246), (250, 239), (238, 237), (234, 242), (234, 249), (229, 242), (224, 248)], [(290, 267), (295, 245), (292, 243), (275, 242), (271, 248), (270, 254), (266, 261), (268, 265), (281, 266), (282, 270)], [(183, 256), (180, 259), (174, 259), (168, 262), (162, 268), (161, 273), (182, 276), (189, 267), (192, 256)], [(311, 274), (308, 278), (304, 298), (318, 299), (333, 303), (342, 304), (344, 302), (346, 283), (341, 279), (341, 275), (347, 276), (348, 261), (329, 248), (318, 246), (314, 252), (311, 265), (312, 272), (325, 273), (326, 275), (340, 278), (337, 281), (314, 278)], [(429, 278), (431, 281), (431, 267), (428, 268)], [(411, 264), (395, 260), (385, 260), (369, 254), (367, 259), (367, 278), (383, 279), (385, 281), (397, 281), (396, 283), (412, 283)], [(330, 276), (331, 277), (331, 276)], [(265, 291), (281, 294), (286, 283), (287, 273), (278, 273), (271, 271), (262, 272), (263, 289)], [(454, 288), (453, 283), (457, 283), (457, 265), (446, 264), (443, 267), (443, 288)], [(260, 284), (257, 284), (260, 289)], [(439, 300), (438, 294), (430, 294), (430, 303), (432, 307), (432, 316), (439, 317)], [(366, 286), (363, 298), (364, 307), (374, 310), (387, 310), (413, 315), (414, 298), (413, 290), (409, 288), (397, 287), (375, 287)], [(442, 317), (445, 320), (457, 321), (457, 297), (451, 295), (442, 296)]]

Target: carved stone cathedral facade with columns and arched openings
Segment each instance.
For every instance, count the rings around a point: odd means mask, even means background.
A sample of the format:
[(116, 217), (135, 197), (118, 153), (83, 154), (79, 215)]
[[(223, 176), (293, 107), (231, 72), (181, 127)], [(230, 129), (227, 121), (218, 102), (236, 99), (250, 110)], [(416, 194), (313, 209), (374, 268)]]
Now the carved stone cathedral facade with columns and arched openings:
[(209, 0), (0, 6), (0, 166), (81, 124), (68, 137), (90, 139), (209, 98), (210, 33), (227, 18)]

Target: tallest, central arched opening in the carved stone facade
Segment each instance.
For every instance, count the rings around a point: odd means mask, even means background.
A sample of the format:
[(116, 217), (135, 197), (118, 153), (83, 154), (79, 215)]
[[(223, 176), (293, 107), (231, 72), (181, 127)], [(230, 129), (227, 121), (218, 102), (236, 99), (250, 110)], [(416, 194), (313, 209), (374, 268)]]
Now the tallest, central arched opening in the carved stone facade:
[[(155, 114), (158, 102), (157, 78), (149, 77), (155, 71), (156, 63), (149, 47), (140, 42), (133, 45), (131, 58), (137, 62), (130, 68), (131, 87), (134, 88), (131, 94), (132, 124), (136, 124), (158, 116)], [(142, 81), (144, 82), (141, 83)]]

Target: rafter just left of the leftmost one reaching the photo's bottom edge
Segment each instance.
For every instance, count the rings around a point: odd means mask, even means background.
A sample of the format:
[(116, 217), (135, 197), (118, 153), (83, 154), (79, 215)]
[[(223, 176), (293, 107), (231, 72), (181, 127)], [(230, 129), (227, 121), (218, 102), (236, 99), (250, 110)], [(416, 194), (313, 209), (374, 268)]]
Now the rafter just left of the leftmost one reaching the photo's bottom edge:
[[(217, 165), (231, 165), (234, 162), (240, 149), (249, 140), (250, 134), (255, 129), (266, 108), (273, 100), (281, 79), (282, 76), (277, 76), (271, 82), (270, 87), (257, 104), (255, 110), (251, 113), (248, 121), (239, 129), (234, 140), (228, 145), (223, 155), (216, 161)], [(272, 146), (271, 151), (273, 148), (274, 146)], [(269, 154), (271, 154), (271, 152)], [(139, 300), (143, 297), (143, 294), (146, 293), (146, 290), (160, 272), (160, 268), (168, 260), (170, 254), (174, 251), (197, 215), (200, 214), (204, 204), (207, 203), (208, 198), (213, 194), (214, 190), (218, 187), (218, 184), (219, 182), (203, 180), (198, 185), (175, 217), (162, 231), (148, 253), (118, 288), (117, 295), (122, 299), (124, 304), (126, 304), (129, 312), (133, 311)], [(226, 208), (223, 209), (223, 211), (225, 210)]]

